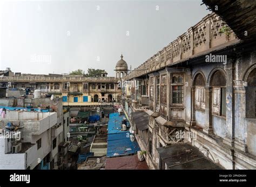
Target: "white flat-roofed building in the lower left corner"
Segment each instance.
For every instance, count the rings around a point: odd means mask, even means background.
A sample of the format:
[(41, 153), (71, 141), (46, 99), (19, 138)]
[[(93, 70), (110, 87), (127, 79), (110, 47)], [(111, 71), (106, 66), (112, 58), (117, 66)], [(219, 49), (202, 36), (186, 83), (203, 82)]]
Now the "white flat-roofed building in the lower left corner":
[[(57, 169), (58, 145), (63, 141), (57, 112), (6, 111), (1, 127), (0, 169)], [(6, 130), (20, 135), (8, 138)]]

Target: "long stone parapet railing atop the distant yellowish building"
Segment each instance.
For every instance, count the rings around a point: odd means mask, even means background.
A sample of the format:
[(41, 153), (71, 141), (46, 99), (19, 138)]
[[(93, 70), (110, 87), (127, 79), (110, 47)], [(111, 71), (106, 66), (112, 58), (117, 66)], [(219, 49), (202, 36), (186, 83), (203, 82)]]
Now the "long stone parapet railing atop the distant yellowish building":
[(4, 76), (0, 82), (118, 82), (116, 77)]

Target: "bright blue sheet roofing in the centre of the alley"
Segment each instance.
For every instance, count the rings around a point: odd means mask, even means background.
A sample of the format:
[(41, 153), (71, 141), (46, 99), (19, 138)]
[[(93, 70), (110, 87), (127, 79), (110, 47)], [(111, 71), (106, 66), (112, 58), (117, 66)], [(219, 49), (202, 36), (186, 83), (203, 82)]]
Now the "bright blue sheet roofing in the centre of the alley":
[(111, 113), (109, 116), (107, 157), (136, 154), (140, 150), (138, 143), (130, 140), (131, 133), (121, 131), (123, 118), (118, 113)]

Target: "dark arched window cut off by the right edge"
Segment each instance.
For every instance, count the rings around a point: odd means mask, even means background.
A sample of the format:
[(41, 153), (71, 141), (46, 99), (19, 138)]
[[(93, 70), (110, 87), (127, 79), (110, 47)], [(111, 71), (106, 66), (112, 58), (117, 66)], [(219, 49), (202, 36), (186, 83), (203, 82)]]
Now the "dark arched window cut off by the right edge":
[(256, 118), (256, 68), (248, 75), (246, 82), (246, 118)]

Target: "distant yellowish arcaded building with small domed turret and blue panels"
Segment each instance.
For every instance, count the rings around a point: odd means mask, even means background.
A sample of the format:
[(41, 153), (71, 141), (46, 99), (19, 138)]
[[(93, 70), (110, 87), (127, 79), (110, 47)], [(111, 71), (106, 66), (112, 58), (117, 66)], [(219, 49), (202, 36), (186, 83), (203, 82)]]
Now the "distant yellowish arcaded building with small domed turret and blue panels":
[(0, 88), (24, 90), (24, 93), (28, 88), (31, 92), (40, 90), (42, 93), (62, 97), (63, 106), (101, 105), (120, 102), (122, 90), (118, 85), (127, 70), (123, 55), (116, 64), (116, 77), (107, 77), (107, 73), (103, 73), (100, 77), (14, 74), (10, 68), (6, 68), (5, 71), (1, 71)]

